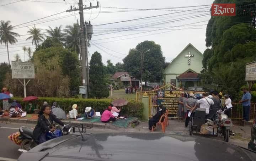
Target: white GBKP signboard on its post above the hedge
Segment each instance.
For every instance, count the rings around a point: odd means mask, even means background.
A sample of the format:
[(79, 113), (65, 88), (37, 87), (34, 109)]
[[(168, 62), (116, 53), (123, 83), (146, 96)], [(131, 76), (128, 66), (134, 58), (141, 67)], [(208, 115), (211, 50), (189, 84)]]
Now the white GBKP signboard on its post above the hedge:
[[(12, 79), (18, 81), (24, 86), (24, 98), (27, 96), (26, 85), (30, 79), (34, 79), (34, 63), (12, 61)], [(23, 79), (23, 83), (20, 79)], [(26, 83), (26, 79), (29, 79)]]

